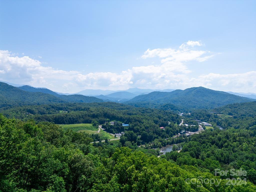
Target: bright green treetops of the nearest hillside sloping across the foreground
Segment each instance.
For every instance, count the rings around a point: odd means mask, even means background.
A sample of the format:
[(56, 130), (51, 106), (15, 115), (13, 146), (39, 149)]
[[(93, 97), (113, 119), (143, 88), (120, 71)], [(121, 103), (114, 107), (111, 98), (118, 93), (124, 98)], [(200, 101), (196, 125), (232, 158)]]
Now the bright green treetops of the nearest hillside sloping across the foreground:
[[(177, 165), (141, 150), (90, 144), (86, 133), (0, 115), (0, 191), (249, 191), (197, 166)], [(169, 157), (168, 157), (169, 158)], [(214, 184), (199, 179), (212, 179)], [(195, 184), (196, 182), (196, 184)]]

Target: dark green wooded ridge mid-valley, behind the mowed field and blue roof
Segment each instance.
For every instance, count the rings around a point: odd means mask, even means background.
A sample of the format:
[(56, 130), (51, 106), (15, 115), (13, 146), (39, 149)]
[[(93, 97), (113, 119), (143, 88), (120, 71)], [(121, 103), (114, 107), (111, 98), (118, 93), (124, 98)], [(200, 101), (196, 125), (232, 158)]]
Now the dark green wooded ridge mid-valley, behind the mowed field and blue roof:
[[(61, 110), (66, 110), (67, 113), (60, 113)], [(177, 124), (181, 122), (180, 116), (170, 111), (136, 108), (111, 102), (23, 106), (0, 112), (9, 118), (33, 119), (36, 122), (48, 121), (56, 124), (91, 123), (92, 121), (104, 124), (116, 121), (118, 123), (111, 129), (106, 127), (110, 133), (133, 131), (136, 135), (142, 135), (140, 140), (136, 139), (139, 143), (171, 137), (179, 131), (180, 127)], [(129, 126), (124, 129), (121, 123)], [(165, 126), (166, 130), (159, 128), (162, 126)]]

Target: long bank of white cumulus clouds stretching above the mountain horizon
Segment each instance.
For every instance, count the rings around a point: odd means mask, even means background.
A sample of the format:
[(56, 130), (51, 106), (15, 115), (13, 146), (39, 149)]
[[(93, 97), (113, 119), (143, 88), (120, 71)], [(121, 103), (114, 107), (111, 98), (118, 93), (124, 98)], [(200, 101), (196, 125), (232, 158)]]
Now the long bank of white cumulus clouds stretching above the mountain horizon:
[[(200, 48), (200, 49), (198, 49)], [(200, 41), (188, 41), (174, 48), (147, 49), (141, 56), (150, 65), (132, 67), (120, 73), (57, 70), (43, 66), (28, 56), (18, 57), (10, 51), (0, 50), (0, 80), (47, 87), (58, 92), (78, 92), (83, 89), (128, 89), (131, 87), (152, 89), (186, 89), (203, 86), (216, 90), (256, 92), (256, 72), (238, 74), (200, 75), (189, 78), (191, 61), (204, 62), (216, 54), (203, 49)], [(158, 58), (154, 65), (150, 58)]]

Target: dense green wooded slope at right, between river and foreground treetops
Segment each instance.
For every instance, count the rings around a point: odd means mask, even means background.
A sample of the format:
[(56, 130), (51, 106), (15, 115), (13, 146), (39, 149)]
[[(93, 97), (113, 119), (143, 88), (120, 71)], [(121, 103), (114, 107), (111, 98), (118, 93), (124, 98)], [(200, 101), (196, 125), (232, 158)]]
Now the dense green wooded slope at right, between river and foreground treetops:
[[(243, 169), (256, 184), (256, 130), (204, 131), (189, 138), (180, 153), (166, 153), (178, 165), (193, 165), (214, 174), (215, 169)], [(231, 177), (232, 178), (232, 177)]]

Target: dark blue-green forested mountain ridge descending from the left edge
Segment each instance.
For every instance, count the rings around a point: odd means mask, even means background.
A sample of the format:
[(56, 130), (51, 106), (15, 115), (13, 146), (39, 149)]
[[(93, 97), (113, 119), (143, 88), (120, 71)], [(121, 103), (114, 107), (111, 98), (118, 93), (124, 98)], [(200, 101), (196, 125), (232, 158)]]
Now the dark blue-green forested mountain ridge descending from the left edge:
[(103, 102), (103, 100), (84, 95), (59, 95), (49, 89), (31, 86), (14, 87), (0, 82), (0, 108), (31, 104)]

